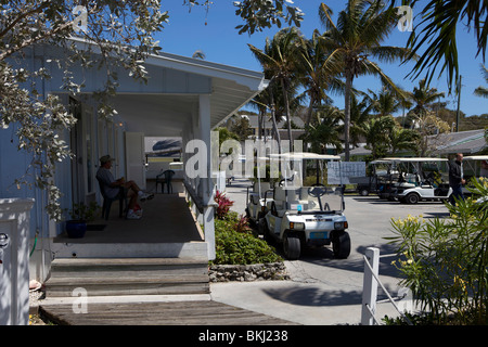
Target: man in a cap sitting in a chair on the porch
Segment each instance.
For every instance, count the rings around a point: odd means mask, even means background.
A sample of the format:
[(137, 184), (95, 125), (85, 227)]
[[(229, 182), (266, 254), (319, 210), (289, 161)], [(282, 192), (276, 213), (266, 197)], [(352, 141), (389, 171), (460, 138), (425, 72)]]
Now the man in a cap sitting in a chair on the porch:
[(141, 202), (144, 202), (153, 198), (154, 194), (144, 193), (134, 181), (126, 182), (124, 177), (115, 180), (111, 172), (112, 162), (115, 159), (110, 155), (104, 155), (100, 158), (100, 168), (97, 171), (97, 179), (102, 182), (101, 185), (103, 192), (108, 198), (116, 198), (117, 195), (120, 194), (120, 188), (124, 188), (124, 193), (130, 198), (127, 219), (140, 219), (142, 217), (142, 210), (134, 210), (134, 207), (138, 206), (138, 198)]

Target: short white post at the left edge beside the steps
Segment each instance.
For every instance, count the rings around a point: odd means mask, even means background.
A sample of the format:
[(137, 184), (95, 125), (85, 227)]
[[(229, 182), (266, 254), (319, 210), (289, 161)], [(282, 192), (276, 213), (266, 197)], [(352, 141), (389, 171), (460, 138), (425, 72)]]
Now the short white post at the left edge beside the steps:
[(29, 219), (34, 198), (0, 198), (0, 325), (29, 323)]

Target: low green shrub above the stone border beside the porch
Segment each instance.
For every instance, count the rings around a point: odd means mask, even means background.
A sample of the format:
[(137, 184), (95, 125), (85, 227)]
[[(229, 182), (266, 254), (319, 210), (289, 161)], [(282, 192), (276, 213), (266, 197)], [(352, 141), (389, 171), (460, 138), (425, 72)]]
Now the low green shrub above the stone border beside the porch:
[[(266, 241), (257, 239), (251, 229), (242, 228), (242, 216), (230, 213), (215, 220), (216, 259), (214, 265), (251, 265), (283, 261)], [(242, 230), (237, 232), (236, 229)]]

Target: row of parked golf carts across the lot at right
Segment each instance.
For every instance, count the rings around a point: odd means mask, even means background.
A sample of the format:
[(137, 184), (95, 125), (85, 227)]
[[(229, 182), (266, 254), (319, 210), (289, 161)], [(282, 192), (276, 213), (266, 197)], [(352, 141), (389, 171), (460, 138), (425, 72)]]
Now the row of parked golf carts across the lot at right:
[[(488, 155), (465, 156), (464, 178), (479, 177), (479, 164)], [(387, 157), (370, 163), (370, 175), (351, 178), (358, 192), (365, 196), (377, 194), (381, 198), (416, 204), (420, 201), (446, 201), (452, 190), (449, 187), (449, 165), (447, 158), (431, 157)], [(466, 195), (470, 191), (463, 188)]]

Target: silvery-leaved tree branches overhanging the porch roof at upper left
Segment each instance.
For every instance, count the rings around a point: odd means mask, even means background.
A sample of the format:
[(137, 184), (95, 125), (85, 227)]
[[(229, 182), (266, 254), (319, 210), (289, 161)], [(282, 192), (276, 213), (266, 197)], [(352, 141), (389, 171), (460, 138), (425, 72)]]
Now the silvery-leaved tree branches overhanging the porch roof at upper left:
[[(183, 0), (193, 5), (210, 7), (211, 1)], [(240, 33), (260, 31), (281, 21), (299, 25), (304, 13), (286, 0), (246, 0), (234, 2), (235, 14), (244, 24)], [(98, 114), (111, 118), (116, 114), (110, 97), (116, 93), (123, 67), (128, 75), (145, 80), (144, 59), (160, 50), (154, 35), (163, 29), (168, 13), (159, 0), (126, 1), (60, 1), (11, 0), (0, 1), (0, 129), (15, 125), (18, 150), (31, 155), (28, 172), (14, 183), (35, 185), (48, 192), (47, 210), (60, 220), (61, 191), (54, 181), (59, 162), (72, 158), (68, 145), (60, 133), (70, 129), (76, 118), (55, 95), (41, 94), (38, 85), (51, 77), (48, 67), (30, 69), (25, 61), (26, 50), (46, 43), (64, 50), (64, 59), (52, 60), (52, 69), (60, 69), (63, 86), (69, 94), (82, 92), (84, 85), (75, 80), (73, 67), (104, 66), (105, 82), (93, 97)], [(84, 48), (76, 44), (85, 41)], [(100, 60), (93, 61), (93, 56)], [(33, 176), (34, 180), (27, 179)]]

